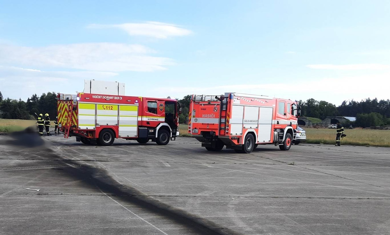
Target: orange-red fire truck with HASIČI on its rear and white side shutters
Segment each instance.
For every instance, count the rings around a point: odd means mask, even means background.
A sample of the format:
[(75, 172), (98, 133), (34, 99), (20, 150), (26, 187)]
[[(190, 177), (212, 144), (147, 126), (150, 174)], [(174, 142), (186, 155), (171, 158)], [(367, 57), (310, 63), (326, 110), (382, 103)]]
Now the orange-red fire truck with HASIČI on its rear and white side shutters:
[(300, 107), (291, 100), (240, 93), (192, 95), (188, 133), (209, 151), (226, 146), (251, 153), (259, 144), (289, 150), (299, 116)]

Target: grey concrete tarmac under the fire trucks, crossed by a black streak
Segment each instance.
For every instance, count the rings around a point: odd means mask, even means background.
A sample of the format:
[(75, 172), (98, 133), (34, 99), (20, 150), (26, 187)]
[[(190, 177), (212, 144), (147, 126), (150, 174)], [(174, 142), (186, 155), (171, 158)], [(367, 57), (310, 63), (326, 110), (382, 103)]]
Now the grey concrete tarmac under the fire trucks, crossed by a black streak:
[(388, 148), (39, 138), (0, 136), (0, 234), (390, 234)]

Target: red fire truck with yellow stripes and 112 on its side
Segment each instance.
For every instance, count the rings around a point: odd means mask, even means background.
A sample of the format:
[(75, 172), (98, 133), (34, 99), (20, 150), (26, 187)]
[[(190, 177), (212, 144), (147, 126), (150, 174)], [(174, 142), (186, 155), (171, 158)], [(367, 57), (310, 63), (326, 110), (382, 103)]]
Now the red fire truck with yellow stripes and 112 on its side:
[(78, 93), (57, 95), (64, 137), (109, 146), (115, 138), (168, 144), (179, 135), (181, 104), (174, 99)]

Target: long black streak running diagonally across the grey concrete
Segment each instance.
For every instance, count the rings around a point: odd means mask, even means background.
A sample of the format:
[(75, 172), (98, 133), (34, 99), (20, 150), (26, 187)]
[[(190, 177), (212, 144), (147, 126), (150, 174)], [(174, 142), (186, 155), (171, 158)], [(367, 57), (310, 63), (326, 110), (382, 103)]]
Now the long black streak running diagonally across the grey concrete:
[[(120, 184), (115, 181), (106, 170), (101, 168), (92, 167), (90, 165), (81, 165), (80, 161), (67, 160), (58, 156), (49, 145), (41, 139), (33, 128), (27, 128), (21, 132), (13, 132), (10, 136), (14, 140), (7, 141), (7, 145), (35, 148), (43, 147), (44, 157), (48, 160), (56, 160), (68, 165), (69, 167), (62, 167), (62, 172), (65, 172), (73, 179), (82, 180), (87, 188), (91, 190), (103, 191), (109, 196), (115, 196), (120, 198), (122, 202), (132, 203), (147, 209), (155, 214), (167, 217), (179, 224), (186, 226), (187, 228), (196, 231), (202, 235), (239, 235), (236, 231), (232, 231), (229, 228), (223, 228), (218, 224), (215, 224), (206, 219), (202, 219), (198, 216), (192, 215), (184, 210), (174, 208), (170, 205), (155, 200), (149, 196), (144, 195), (141, 191), (126, 185)], [(49, 163), (50, 164), (50, 163)]]

